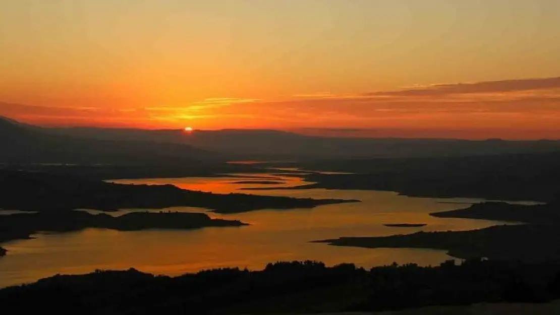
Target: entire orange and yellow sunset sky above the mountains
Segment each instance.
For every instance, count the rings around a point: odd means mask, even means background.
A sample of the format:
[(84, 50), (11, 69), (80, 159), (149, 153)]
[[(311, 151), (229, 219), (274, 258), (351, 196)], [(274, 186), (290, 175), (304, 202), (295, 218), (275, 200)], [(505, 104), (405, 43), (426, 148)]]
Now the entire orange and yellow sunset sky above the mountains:
[(0, 115), (560, 139), (558, 0), (0, 0)]

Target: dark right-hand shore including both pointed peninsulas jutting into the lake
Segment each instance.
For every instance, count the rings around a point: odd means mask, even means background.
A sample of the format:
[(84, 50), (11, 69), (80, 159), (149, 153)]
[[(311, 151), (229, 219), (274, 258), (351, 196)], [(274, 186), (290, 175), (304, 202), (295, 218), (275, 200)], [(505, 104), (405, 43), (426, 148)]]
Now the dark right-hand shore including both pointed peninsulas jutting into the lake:
[(417, 232), (386, 237), (341, 237), (317, 241), (335, 246), (366, 248), (432, 248), (458, 258), (560, 261), (560, 206), (502, 202), (431, 213), (440, 218), (486, 219), (526, 223), (496, 225), (474, 231)]

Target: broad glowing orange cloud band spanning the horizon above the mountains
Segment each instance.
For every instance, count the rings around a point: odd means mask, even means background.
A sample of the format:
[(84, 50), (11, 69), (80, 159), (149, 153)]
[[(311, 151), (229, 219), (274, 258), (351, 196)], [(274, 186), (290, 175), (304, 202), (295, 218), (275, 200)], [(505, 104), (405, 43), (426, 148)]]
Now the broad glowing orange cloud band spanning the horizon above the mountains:
[[(0, 103), (0, 115), (38, 124), (176, 128), (548, 128), (560, 125), (560, 78), (434, 84), (402, 91), (311, 93), (184, 105), (50, 107)], [(343, 131), (347, 129), (348, 131)]]

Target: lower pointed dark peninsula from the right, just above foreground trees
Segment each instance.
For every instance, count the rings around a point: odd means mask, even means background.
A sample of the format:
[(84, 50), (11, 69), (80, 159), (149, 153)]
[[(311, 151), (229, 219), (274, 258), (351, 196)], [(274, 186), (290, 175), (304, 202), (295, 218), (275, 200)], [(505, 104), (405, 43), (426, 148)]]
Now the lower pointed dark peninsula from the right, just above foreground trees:
[(316, 241), (365, 248), (432, 248), (457, 258), (528, 262), (560, 261), (558, 225), (496, 225), (473, 231), (417, 232), (384, 237), (341, 237)]

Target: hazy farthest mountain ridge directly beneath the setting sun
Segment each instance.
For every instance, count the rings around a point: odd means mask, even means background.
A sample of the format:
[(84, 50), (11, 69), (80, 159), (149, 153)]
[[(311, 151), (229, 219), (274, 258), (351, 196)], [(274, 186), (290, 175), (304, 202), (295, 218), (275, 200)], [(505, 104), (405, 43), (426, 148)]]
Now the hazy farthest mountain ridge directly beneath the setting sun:
[(186, 143), (235, 159), (346, 159), (476, 156), (560, 150), (560, 141), (316, 137), (278, 130), (138, 130), (55, 128), (57, 134), (95, 139)]

